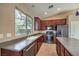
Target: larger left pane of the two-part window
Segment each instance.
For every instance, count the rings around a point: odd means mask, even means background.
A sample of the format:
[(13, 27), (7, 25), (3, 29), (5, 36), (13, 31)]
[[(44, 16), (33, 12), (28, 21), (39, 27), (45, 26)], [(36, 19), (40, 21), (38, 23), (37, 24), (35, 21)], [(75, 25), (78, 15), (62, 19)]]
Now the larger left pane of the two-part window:
[(15, 27), (16, 35), (26, 33), (26, 15), (18, 9), (15, 10)]

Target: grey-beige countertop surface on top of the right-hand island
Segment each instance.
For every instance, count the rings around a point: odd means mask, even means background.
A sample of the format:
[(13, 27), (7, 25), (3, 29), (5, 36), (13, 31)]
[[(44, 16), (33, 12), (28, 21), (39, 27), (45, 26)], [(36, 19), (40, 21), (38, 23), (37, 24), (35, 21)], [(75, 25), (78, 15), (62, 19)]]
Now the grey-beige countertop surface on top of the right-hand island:
[(74, 38), (57, 37), (57, 40), (71, 53), (73, 56), (79, 56), (79, 40)]

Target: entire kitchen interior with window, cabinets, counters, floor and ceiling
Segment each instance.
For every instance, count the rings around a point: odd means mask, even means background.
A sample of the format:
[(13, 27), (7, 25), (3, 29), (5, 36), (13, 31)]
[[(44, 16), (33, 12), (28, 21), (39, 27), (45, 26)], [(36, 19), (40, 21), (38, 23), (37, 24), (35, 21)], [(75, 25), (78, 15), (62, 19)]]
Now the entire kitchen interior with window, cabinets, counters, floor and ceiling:
[(77, 3), (0, 3), (0, 55), (79, 56), (78, 10)]

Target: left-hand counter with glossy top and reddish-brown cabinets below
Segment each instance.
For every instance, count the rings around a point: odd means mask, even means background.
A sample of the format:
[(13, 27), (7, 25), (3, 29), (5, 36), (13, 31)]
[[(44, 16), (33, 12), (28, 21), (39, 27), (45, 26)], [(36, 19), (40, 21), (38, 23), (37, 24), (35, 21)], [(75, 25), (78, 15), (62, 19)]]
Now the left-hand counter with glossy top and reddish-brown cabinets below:
[(34, 56), (43, 42), (43, 35), (38, 34), (1, 47), (2, 56)]

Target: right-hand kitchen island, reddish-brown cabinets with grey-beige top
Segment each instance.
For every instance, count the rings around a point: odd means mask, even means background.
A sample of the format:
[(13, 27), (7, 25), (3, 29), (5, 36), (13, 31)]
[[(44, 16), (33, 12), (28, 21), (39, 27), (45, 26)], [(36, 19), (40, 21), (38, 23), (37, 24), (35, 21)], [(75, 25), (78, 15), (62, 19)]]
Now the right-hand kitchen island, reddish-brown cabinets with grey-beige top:
[(56, 50), (59, 56), (79, 56), (79, 40), (56, 37)]

